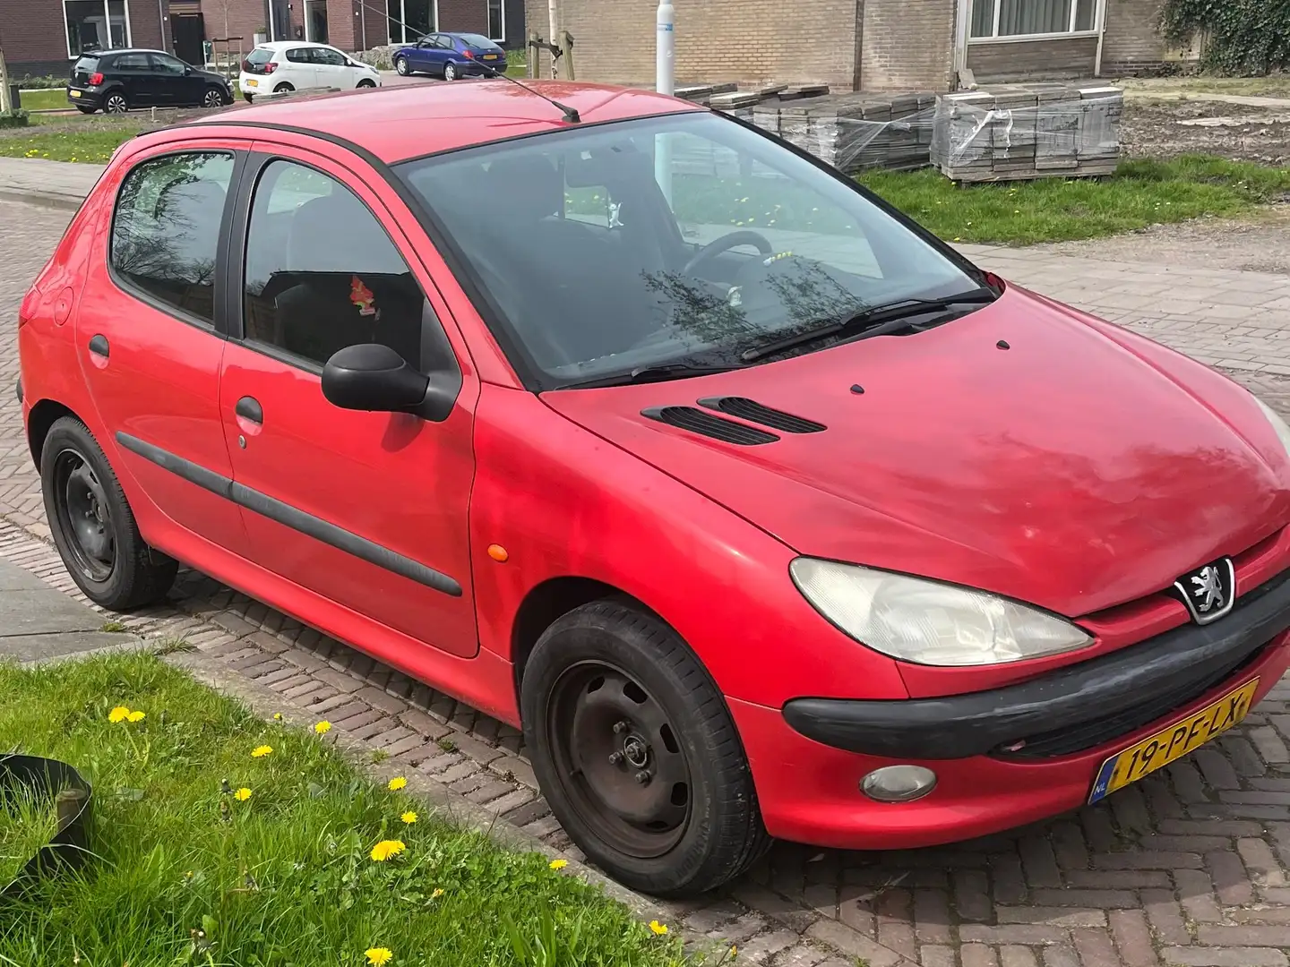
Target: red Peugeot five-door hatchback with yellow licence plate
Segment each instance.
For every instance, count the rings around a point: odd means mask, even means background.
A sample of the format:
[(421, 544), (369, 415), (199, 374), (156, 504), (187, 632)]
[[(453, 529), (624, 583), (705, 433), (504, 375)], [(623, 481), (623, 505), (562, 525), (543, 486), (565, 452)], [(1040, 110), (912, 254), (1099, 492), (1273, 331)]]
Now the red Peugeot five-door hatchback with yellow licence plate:
[(1249, 392), (737, 120), (537, 90), (116, 153), (19, 318), (92, 600), (183, 561), (522, 725), (659, 895), (1100, 799), (1286, 670), (1290, 429)]

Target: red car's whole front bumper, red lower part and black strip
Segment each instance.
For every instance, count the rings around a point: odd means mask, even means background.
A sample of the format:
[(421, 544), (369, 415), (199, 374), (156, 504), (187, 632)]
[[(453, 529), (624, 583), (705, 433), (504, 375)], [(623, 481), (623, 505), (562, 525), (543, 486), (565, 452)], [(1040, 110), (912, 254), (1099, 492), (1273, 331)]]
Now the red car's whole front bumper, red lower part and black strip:
[[(1287, 629), (1290, 572), (1242, 594), (1216, 624), (1007, 689), (783, 709), (728, 703), (771, 835), (846, 850), (935, 846), (1084, 806), (1108, 757), (1254, 678), (1251, 705), (1260, 701), (1290, 667)], [(899, 805), (860, 793), (868, 772), (898, 763), (933, 770), (935, 789)]]

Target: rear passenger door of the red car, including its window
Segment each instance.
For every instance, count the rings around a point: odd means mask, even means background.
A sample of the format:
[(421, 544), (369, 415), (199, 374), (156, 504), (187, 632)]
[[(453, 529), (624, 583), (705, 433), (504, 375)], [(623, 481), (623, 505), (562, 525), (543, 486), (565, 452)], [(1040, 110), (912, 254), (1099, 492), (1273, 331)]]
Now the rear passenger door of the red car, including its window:
[[(245, 549), (241, 514), (203, 481), (230, 480), (219, 419), (219, 237), (239, 155), (184, 150), (141, 161), (112, 184), (95, 227), (107, 260), (86, 280), (75, 335), (107, 453), (179, 527)], [(104, 237), (106, 236), (106, 237)]]

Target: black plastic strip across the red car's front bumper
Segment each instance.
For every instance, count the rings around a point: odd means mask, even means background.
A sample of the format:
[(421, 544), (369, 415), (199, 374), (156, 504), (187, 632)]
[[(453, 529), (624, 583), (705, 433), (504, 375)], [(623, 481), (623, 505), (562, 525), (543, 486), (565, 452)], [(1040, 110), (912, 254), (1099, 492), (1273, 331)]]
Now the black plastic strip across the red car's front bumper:
[(962, 759), (1082, 752), (1171, 716), (1290, 629), (1290, 571), (1242, 594), (1223, 620), (1188, 624), (1006, 689), (935, 699), (796, 699), (784, 719), (846, 752)]

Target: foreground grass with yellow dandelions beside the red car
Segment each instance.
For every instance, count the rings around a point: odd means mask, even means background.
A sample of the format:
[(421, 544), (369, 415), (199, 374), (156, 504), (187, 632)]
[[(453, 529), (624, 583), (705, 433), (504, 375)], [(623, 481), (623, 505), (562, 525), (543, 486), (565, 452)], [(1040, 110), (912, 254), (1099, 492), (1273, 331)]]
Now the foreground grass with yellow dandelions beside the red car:
[(312, 732), (151, 655), (0, 665), (0, 748), (81, 771), (97, 854), (0, 913), (0, 964), (359, 967), (383, 949), (392, 967), (684, 962), (544, 857), (414, 815)]

